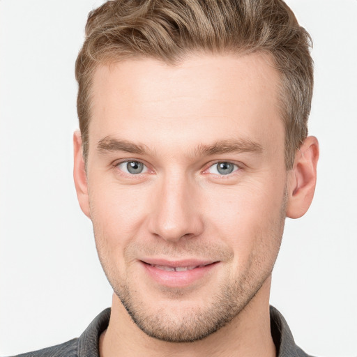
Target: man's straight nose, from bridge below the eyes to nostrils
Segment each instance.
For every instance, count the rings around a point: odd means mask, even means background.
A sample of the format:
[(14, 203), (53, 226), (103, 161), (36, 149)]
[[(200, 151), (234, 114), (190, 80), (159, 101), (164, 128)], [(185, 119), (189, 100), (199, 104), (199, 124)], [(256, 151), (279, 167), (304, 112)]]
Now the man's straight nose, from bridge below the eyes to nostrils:
[(151, 234), (169, 242), (202, 234), (204, 221), (197, 190), (199, 188), (195, 188), (195, 183), (190, 182), (184, 175), (167, 175), (162, 178), (151, 205)]

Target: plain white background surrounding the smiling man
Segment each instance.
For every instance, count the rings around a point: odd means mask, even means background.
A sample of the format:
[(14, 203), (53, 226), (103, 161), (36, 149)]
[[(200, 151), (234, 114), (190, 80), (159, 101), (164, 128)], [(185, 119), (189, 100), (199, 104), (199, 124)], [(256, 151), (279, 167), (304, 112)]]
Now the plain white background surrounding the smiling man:
[[(310, 211), (288, 220), (271, 303), (317, 356), (357, 356), (357, 1), (290, 0), (314, 39)], [(111, 304), (72, 179), (74, 63), (102, 1), (0, 0), (0, 354), (58, 344)]]

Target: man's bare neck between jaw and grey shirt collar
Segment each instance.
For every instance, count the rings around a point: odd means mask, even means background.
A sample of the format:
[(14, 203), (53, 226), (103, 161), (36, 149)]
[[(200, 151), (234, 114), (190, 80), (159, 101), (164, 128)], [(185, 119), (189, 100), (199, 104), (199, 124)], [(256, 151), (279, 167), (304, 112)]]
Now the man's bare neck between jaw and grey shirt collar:
[(271, 337), (269, 277), (254, 298), (226, 326), (203, 340), (172, 343), (157, 340), (142, 332), (114, 294), (107, 330), (100, 336), (100, 357), (206, 357), (276, 356)]

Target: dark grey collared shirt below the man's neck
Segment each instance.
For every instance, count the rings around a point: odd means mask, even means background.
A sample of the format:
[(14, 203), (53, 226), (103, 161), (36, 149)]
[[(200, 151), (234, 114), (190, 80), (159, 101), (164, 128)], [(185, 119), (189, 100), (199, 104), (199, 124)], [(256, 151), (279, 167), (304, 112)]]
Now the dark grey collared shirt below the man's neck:
[[(100, 314), (79, 336), (63, 344), (47, 347), (40, 351), (17, 355), (18, 357), (99, 357), (99, 337), (109, 324), (110, 308)], [(296, 346), (287, 321), (282, 314), (271, 306), (271, 335), (273, 337), (278, 357), (310, 357)]]

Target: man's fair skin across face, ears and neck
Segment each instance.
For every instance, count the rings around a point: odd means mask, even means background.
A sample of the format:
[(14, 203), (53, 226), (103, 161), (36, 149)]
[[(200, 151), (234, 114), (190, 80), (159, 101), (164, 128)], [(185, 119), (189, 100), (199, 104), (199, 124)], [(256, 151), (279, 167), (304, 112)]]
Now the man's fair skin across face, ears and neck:
[[(286, 171), (270, 63), (197, 54), (97, 68), (88, 161), (76, 132), (74, 176), (114, 289), (100, 356), (275, 356), (271, 271), (285, 217), (310, 206), (319, 150), (308, 137)], [(210, 264), (197, 276), (148, 264), (197, 261)]]

